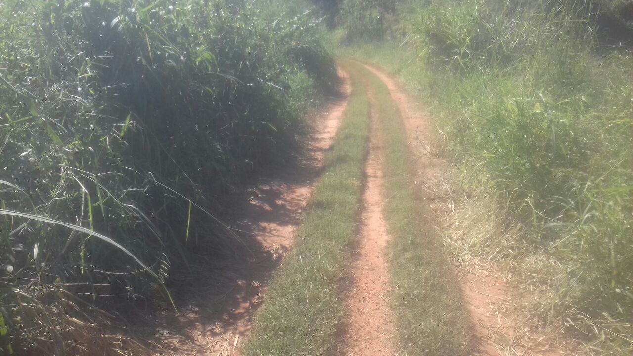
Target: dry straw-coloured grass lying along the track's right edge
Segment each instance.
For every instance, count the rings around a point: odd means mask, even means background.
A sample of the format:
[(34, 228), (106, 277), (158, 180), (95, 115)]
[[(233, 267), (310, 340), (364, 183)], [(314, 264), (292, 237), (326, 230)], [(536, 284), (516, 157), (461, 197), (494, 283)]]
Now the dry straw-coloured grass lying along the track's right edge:
[[(463, 281), (486, 279), (501, 285), (489, 294), (491, 319), (487, 343), (501, 355), (589, 355), (580, 340), (568, 334), (570, 321), (556, 317), (563, 267), (547, 251), (525, 244), (525, 227), (503, 208), (503, 201), (483, 191), (464, 188), (451, 167), (443, 179), (422, 189)], [(484, 286), (485, 288), (485, 286)], [(487, 294), (486, 290), (478, 290)], [(501, 298), (493, 298), (503, 293)]]

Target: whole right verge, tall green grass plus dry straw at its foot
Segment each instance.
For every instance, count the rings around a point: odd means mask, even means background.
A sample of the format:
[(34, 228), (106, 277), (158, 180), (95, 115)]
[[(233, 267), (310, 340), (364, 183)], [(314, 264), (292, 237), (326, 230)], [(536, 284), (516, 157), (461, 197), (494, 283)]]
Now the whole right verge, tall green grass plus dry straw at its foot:
[(399, 5), (393, 37), (341, 52), (398, 73), (432, 108), (463, 214), (443, 227), (446, 245), (459, 260), (499, 262), (527, 296), (530, 327), (629, 355), (633, 56), (618, 41), (626, 22), (605, 29), (601, 18), (630, 4)]

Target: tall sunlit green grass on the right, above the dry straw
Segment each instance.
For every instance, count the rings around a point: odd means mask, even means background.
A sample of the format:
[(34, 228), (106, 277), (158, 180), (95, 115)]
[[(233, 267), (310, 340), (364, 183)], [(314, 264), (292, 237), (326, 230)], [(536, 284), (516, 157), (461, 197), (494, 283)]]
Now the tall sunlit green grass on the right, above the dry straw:
[(568, 271), (556, 316), (628, 354), (633, 57), (598, 57), (594, 20), (574, 6), (433, 1), (410, 16), (405, 42), (464, 172)]

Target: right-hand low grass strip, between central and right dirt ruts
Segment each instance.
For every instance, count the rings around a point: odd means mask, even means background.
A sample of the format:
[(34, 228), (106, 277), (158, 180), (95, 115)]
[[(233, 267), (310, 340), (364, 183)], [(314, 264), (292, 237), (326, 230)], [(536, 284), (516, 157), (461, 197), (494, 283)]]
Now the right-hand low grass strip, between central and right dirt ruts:
[[(360, 66), (360, 65), (359, 65)], [(468, 355), (468, 310), (430, 214), (414, 189), (415, 167), (398, 108), (385, 84), (366, 68), (372, 112), (385, 147), (383, 212), (391, 235), (389, 269), (399, 346), (409, 355)]]

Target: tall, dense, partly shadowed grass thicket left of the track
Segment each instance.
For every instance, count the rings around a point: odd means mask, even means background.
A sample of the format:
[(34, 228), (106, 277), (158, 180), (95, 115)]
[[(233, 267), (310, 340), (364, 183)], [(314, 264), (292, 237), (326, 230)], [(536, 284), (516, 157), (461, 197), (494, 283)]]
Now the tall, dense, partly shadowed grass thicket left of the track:
[(178, 308), (189, 251), (232, 250), (225, 192), (289, 158), (335, 90), (304, 5), (0, 3), (4, 353), (151, 354), (135, 319)]

